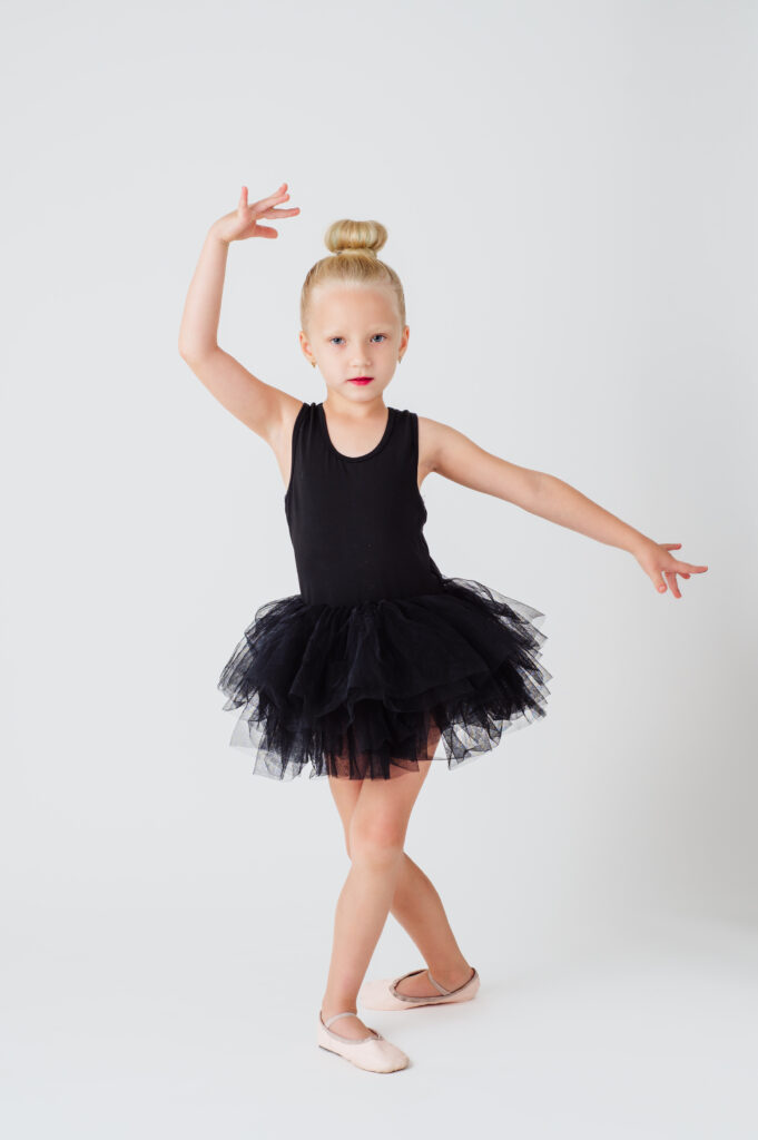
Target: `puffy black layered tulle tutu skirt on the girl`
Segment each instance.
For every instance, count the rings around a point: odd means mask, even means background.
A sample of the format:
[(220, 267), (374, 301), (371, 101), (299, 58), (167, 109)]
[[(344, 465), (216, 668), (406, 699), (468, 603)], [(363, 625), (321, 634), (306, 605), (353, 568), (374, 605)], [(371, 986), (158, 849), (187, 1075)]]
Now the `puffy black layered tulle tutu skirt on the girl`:
[(300, 594), (256, 612), (218, 683), (253, 772), (389, 780), (458, 767), (546, 712), (545, 614), (467, 578), (357, 605)]

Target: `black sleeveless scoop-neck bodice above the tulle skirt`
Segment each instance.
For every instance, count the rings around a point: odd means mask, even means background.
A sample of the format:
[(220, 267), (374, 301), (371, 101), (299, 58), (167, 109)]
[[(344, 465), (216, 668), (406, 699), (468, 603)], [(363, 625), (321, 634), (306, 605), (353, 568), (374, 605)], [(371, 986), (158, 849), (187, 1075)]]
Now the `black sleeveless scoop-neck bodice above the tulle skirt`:
[(442, 591), (423, 535), (418, 417), (388, 410), (384, 435), (358, 456), (336, 450), (323, 404), (304, 402), (298, 413), (284, 506), (308, 603), (356, 605)]

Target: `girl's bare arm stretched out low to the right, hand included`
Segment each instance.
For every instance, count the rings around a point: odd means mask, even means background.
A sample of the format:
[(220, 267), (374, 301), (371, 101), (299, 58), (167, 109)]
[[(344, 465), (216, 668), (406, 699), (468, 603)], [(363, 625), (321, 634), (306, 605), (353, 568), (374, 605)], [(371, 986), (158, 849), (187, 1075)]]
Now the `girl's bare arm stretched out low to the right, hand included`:
[(680, 597), (677, 573), (688, 578), (691, 573), (708, 570), (708, 567), (691, 565), (673, 557), (669, 551), (680, 547), (680, 543), (655, 543), (562, 479), (508, 463), (483, 450), (447, 424), (421, 417), (419, 423), (423, 425), (421, 430), (425, 435), (432, 471), (464, 487), (496, 495), (531, 514), (579, 531), (598, 543), (628, 551), (660, 593), (666, 591), (663, 575), (668, 578), (673, 595)]

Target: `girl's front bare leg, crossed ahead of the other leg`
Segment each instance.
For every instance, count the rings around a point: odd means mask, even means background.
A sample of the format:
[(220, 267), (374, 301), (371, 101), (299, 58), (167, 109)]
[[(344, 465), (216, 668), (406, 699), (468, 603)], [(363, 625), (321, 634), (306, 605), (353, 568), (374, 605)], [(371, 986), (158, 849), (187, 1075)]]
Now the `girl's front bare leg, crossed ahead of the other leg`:
[[(334, 943), (321, 1017), (357, 1010), (358, 991), (390, 913), (404, 863), (402, 845), (410, 812), (432, 760), (419, 760), (418, 772), (392, 780), (337, 781), (350, 789), (354, 806), (350, 822), (351, 868), (337, 899)], [(333, 782), (336, 777), (331, 776)], [(442, 983), (445, 984), (445, 983)], [(368, 1028), (356, 1015), (341, 1018), (339, 1032), (365, 1037)]]

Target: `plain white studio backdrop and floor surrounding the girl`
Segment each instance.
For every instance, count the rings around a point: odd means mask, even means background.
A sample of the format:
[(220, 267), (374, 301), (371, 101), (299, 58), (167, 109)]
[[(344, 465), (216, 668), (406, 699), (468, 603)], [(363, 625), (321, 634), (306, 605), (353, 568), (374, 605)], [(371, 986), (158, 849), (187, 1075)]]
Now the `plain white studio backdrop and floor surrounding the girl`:
[[(755, 5), (2, 24), (7, 1134), (755, 1135)], [(482, 990), (367, 1015), (414, 1060), (385, 1077), (315, 1044), (349, 870), (327, 783), (252, 776), (215, 689), (298, 581), (274, 454), (179, 323), (207, 227), (282, 181), (301, 214), (231, 246), (227, 351), (320, 400), (302, 282), (332, 221), (375, 218), (410, 326), (386, 402), (709, 567), (660, 596), (424, 484), (440, 569), (544, 611), (554, 679), (419, 797), (407, 849)], [(422, 964), (390, 918), (369, 975)]]

